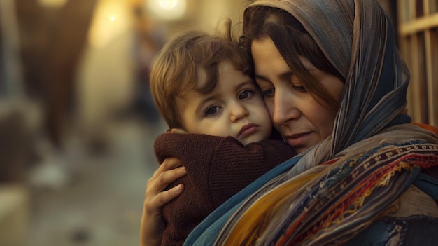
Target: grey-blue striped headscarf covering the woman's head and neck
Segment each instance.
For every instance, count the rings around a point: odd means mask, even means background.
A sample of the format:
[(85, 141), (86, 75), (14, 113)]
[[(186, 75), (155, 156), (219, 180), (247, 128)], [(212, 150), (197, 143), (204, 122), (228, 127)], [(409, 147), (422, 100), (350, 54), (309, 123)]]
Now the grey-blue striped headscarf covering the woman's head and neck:
[(409, 71), (395, 47), (393, 25), (377, 1), (260, 0), (253, 5), (288, 11), (346, 78), (332, 139), (322, 143), (325, 153), (317, 154), (321, 160), (388, 125), (410, 122), (405, 114)]

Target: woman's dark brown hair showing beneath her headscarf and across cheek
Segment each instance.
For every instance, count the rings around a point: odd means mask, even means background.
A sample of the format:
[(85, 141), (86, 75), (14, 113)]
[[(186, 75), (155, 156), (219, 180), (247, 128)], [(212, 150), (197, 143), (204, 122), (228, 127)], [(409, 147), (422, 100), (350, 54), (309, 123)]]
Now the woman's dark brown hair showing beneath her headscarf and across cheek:
[(345, 81), (345, 78), (327, 60), (302, 24), (290, 13), (279, 8), (268, 6), (246, 8), (243, 15), (243, 32), (239, 40), (241, 46), (250, 53), (252, 41), (265, 37), (272, 39), (278, 52), (306, 90), (315, 95), (320, 104), (337, 111), (339, 102), (307, 71), (299, 56), (306, 57), (317, 69), (333, 74), (341, 81)]

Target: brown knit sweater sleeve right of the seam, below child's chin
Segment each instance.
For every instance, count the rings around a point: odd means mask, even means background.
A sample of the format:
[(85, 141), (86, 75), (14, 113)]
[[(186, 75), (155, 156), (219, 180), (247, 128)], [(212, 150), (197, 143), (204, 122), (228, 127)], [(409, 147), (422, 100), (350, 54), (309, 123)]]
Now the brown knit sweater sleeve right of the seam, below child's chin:
[(218, 207), (258, 177), (296, 155), (278, 140), (243, 146), (227, 137), (213, 153), (209, 172), (209, 190), (213, 206)]

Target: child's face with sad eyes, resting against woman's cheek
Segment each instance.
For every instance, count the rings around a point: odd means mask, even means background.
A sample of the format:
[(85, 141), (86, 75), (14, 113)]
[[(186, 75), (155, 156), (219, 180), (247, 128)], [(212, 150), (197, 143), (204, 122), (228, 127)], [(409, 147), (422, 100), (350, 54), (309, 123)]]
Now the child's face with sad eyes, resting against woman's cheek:
[[(198, 85), (206, 83), (198, 69)], [(190, 90), (185, 95), (183, 123), (189, 133), (232, 136), (242, 144), (260, 142), (271, 134), (271, 119), (255, 83), (228, 61), (219, 65), (220, 79), (209, 94)]]

